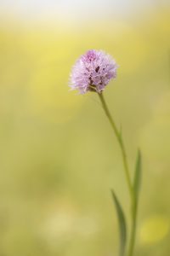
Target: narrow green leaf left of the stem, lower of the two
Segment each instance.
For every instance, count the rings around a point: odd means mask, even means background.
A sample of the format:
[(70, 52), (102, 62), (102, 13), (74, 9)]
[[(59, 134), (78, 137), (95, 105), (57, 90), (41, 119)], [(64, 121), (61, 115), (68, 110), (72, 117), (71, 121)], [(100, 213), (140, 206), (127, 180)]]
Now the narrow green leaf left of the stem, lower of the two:
[(127, 226), (124, 213), (119, 201), (116, 198), (115, 192), (111, 189), (111, 194), (116, 206), (116, 213), (119, 222), (119, 234), (120, 234), (120, 252), (119, 255), (123, 256), (125, 253), (126, 241), (127, 241)]

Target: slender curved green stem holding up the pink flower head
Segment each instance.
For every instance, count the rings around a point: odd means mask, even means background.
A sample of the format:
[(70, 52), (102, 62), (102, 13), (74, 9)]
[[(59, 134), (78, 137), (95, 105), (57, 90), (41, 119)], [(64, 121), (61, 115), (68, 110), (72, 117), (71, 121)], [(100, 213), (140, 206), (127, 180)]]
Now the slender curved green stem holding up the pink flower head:
[(127, 188), (128, 188), (128, 191), (129, 191), (131, 206), (132, 206), (132, 228), (131, 228), (131, 235), (130, 235), (130, 241), (129, 241), (129, 248), (128, 248), (127, 256), (133, 256), (133, 248), (134, 248), (135, 232), (136, 232), (137, 204), (136, 204), (136, 200), (134, 198), (133, 185), (131, 183), (130, 174), (129, 174), (129, 170), (128, 170), (127, 154), (126, 154), (126, 150), (125, 150), (124, 143), (123, 143), (123, 140), (122, 140), (122, 134), (121, 134), (120, 131), (118, 131), (118, 129), (116, 127), (116, 124), (115, 124), (113, 118), (111, 117), (111, 113), (109, 111), (109, 108), (107, 107), (107, 104), (105, 102), (105, 98), (103, 96), (103, 93), (98, 93), (98, 95), (99, 95), (99, 99), (102, 103), (102, 107), (105, 110), (105, 114), (106, 114), (106, 116), (108, 117), (108, 119), (111, 123), (111, 127), (112, 127), (113, 131), (115, 132), (116, 139), (119, 143), (119, 146), (120, 146), (121, 152), (122, 152), (122, 161), (123, 161), (125, 177), (126, 177), (126, 180), (127, 180)]

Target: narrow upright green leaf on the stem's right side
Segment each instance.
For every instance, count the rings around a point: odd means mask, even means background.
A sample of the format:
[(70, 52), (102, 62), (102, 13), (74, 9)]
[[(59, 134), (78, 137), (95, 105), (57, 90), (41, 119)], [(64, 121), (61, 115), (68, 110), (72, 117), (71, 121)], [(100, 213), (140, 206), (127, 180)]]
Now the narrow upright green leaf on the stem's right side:
[(139, 199), (139, 189), (140, 189), (141, 174), (142, 174), (141, 172), (142, 172), (142, 160), (141, 160), (140, 151), (138, 151), (135, 172), (134, 172), (134, 180), (133, 180), (133, 190), (134, 190), (136, 201), (138, 201)]

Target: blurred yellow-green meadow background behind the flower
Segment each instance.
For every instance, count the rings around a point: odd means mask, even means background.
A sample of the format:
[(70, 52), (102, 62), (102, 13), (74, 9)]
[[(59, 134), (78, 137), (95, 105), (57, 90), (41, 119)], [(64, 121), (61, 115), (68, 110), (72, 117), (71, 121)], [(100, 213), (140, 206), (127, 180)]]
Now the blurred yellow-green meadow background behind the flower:
[(1, 256), (117, 255), (120, 150), (98, 97), (68, 88), (88, 49), (120, 66), (105, 98), (132, 174), (142, 150), (135, 255), (170, 255), (169, 1), (1, 0)]

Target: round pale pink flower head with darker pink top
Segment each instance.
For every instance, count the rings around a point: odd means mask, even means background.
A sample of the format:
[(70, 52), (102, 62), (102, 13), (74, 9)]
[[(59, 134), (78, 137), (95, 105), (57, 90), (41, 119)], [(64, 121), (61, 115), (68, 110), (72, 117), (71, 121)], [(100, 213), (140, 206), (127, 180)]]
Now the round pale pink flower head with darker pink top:
[(116, 78), (116, 61), (102, 50), (90, 49), (72, 68), (71, 89), (81, 94), (87, 91), (101, 93), (111, 79)]

